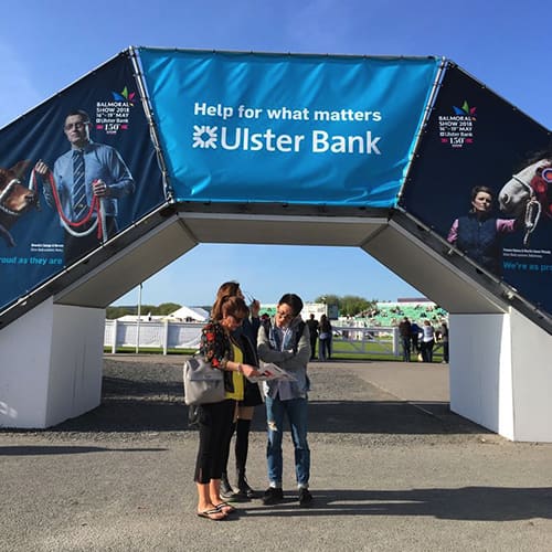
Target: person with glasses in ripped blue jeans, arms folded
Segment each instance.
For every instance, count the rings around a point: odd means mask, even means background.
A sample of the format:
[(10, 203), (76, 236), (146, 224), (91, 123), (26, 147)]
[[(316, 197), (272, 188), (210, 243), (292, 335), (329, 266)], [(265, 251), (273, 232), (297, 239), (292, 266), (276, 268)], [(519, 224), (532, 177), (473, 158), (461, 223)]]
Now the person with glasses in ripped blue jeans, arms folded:
[(287, 416), (295, 447), (295, 475), (300, 506), (310, 506), (310, 449), (307, 442), (308, 391), (307, 363), (310, 359), (308, 326), (301, 320), (302, 300), (298, 295), (286, 294), (278, 301), (276, 315), (269, 325), (258, 330), (258, 357), (289, 372), (295, 380), (264, 382), (268, 443), (266, 458), (269, 487), (263, 503), (275, 505), (284, 499), (282, 488), (282, 439), (284, 418)]

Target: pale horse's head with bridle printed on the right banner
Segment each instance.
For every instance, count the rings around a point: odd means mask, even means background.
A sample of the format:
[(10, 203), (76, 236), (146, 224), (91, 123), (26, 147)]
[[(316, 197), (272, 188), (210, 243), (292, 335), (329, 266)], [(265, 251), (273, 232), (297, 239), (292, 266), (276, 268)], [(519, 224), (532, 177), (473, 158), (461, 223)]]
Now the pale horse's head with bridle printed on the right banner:
[(523, 221), (523, 246), (542, 215), (552, 219), (552, 159), (541, 158), (513, 174), (498, 195), (500, 211)]

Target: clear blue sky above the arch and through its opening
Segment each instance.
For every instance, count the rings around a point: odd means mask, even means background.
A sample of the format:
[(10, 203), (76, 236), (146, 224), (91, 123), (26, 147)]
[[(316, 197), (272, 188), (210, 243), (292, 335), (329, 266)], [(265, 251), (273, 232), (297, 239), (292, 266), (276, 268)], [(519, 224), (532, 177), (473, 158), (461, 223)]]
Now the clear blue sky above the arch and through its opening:
[[(129, 45), (443, 55), (552, 126), (552, 2), (543, 0), (4, 0), (2, 8), (0, 127)], [(205, 277), (213, 258), (221, 269)], [(210, 304), (226, 279), (264, 302), (284, 291), (305, 300), (420, 295), (357, 248), (202, 244), (145, 282), (142, 302)], [(132, 290), (117, 304), (137, 297)]]

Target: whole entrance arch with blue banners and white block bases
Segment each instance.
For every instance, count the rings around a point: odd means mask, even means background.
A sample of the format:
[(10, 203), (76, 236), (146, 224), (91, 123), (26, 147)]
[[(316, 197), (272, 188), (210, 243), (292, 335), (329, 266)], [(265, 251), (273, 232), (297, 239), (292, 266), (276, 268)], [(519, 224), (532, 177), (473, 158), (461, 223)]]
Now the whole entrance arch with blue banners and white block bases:
[[(112, 156), (98, 170), (116, 200), (88, 213), (78, 259), (62, 131), (75, 108)], [(446, 308), (453, 410), (552, 440), (535, 422), (552, 378), (550, 131), (453, 62), (131, 47), (0, 135), (0, 360), (15, 364), (0, 425), (94, 407), (105, 307), (197, 244), (305, 244), (361, 247)], [(476, 184), (501, 212), (464, 247)], [(31, 374), (29, 410), (14, 388)]]

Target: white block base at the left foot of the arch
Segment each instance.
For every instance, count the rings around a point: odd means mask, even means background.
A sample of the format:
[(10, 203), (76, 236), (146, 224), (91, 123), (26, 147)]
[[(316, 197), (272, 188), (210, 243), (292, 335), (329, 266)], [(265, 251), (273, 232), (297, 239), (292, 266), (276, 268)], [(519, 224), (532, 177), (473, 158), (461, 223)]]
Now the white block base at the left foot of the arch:
[(52, 298), (0, 331), (0, 427), (44, 428), (99, 405), (105, 309)]

